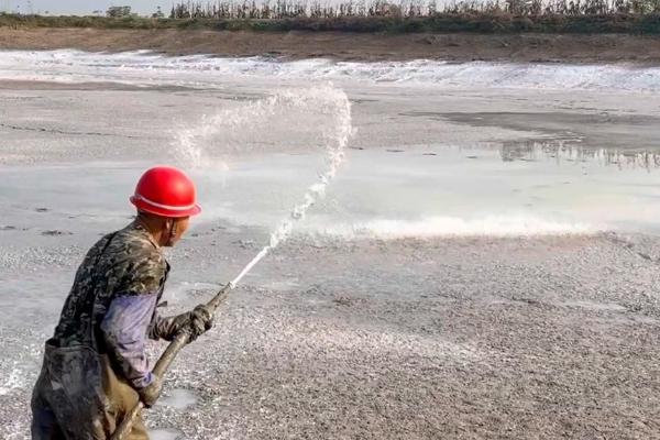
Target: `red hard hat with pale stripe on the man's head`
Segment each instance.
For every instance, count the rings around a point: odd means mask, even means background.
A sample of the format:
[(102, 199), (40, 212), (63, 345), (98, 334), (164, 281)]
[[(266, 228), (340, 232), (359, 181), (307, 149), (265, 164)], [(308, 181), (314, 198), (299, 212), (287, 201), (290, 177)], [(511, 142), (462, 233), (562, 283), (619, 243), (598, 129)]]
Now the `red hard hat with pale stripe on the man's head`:
[(201, 211), (195, 184), (184, 172), (170, 166), (147, 169), (131, 196), (139, 211), (163, 217), (189, 217)]

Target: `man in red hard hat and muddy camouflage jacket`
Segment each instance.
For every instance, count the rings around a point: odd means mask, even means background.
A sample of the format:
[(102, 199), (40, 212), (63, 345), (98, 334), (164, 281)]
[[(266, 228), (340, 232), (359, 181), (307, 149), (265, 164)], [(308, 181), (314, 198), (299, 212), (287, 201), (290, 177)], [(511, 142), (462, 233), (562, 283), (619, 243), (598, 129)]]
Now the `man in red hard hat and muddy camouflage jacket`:
[[(172, 340), (186, 331), (194, 340), (212, 326), (206, 306), (169, 318), (156, 311), (169, 272), (162, 248), (176, 244), (200, 212), (195, 185), (158, 166), (142, 176), (131, 202), (138, 217), (87, 253), (46, 341), (32, 396), (33, 439), (109, 438), (139, 399), (150, 407), (161, 393), (146, 338)], [(129, 438), (148, 438), (141, 418)]]

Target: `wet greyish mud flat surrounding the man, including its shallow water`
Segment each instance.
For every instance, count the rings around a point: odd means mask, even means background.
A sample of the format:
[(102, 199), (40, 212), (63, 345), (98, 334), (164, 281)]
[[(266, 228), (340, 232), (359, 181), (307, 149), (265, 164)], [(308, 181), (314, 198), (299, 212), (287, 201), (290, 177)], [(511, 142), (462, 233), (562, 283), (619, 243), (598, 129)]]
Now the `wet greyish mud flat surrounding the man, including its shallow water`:
[[(176, 360), (152, 438), (660, 438), (652, 95), (348, 82), (344, 166)], [(254, 121), (278, 88), (222, 87), (3, 82), (0, 438), (29, 438), (76, 267), (154, 157), (205, 209), (168, 251), (165, 315), (232, 279), (322, 173), (322, 111)], [(227, 111), (233, 131), (184, 162), (177, 130)], [(637, 134), (600, 146), (605, 125)]]

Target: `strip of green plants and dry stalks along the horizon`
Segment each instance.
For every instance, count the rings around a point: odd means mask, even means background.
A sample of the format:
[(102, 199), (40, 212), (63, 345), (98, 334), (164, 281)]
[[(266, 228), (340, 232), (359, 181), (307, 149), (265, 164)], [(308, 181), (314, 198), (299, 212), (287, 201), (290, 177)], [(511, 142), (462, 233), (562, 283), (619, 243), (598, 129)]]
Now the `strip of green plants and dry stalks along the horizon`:
[(286, 2), (179, 2), (169, 16), (132, 14), (113, 7), (106, 16), (0, 13), (0, 26), (97, 29), (199, 29), (217, 31), (317, 31), (365, 33), (660, 33), (660, 2), (653, 0), (508, 0), (348, 2), (336, 6)]

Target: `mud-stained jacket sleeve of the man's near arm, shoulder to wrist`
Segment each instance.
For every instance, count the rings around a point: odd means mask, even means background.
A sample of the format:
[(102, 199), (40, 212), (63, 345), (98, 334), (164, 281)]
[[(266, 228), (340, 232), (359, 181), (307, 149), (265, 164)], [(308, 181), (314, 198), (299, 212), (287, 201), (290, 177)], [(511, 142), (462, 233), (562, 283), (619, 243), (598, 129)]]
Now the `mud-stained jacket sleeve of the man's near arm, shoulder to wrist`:
[(165, 279), (160, 263), (157, 258), (145, 258), (128, 271), (125, 283), (110, 301), (100, 324), (108, 354), (136, 389), (153, 381), (146, 339)]

